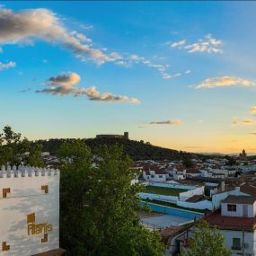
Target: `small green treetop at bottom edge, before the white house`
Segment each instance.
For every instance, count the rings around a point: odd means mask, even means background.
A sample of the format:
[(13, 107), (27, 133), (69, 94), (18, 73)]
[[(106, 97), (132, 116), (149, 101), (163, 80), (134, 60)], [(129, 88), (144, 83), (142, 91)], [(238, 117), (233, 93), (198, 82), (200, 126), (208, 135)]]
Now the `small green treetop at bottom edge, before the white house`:
[(232, 252), (225, 248), (224, 241), (216, 226), (209, 227), (206, 221), (202, 221), (195, 226), (190, 249), (181, 252), (181, 256), (231, 256)]

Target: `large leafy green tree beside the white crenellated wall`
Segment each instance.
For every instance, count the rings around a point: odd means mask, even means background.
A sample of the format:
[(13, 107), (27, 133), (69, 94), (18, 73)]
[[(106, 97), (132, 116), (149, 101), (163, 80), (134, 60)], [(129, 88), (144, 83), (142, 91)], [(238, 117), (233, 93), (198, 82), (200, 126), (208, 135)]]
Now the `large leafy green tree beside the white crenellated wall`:
[(92, 154), (84, 141), (61, 146), (60, 243), (68, 255), (163, 255), (160, 235), (137, 216), (136, 171), (119, 146)]

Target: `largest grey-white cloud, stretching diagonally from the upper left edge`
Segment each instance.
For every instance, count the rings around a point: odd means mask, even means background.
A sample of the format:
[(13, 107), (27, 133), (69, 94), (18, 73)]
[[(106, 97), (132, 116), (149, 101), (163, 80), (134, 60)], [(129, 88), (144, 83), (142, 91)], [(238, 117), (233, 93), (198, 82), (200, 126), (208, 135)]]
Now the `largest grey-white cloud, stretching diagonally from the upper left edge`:
[(114, 62), (122, 57), (118, 53), (105, 54), (100, 49), (93, 49), (83, 34), (67, 31), (56, 13), (48, 9), (32, 9), (13, 12), (0, 9), (0, 45), (13, 43), (31, 43), (33, 40), (45, 40), (59, 44), (74, 52), (82, 60), (92, 59), (97, 64)]

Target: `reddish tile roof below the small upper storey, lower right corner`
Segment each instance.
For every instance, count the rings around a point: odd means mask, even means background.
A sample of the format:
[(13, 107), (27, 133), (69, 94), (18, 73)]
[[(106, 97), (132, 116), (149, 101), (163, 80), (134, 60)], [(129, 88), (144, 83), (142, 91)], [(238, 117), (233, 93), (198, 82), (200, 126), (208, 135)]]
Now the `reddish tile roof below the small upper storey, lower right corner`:
[(215, 212), (205, 216), (204, 219), (210, 225), (217, 225), (219, 229), (246, 229), (252, 231), (256, 227), (256, 217), (222, 216), (220, 209), (217, 209)]

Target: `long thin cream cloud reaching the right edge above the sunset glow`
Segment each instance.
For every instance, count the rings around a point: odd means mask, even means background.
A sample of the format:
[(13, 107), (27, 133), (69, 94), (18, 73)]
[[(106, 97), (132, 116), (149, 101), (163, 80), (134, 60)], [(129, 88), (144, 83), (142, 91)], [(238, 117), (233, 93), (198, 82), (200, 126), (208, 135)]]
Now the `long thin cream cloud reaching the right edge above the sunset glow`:
[(196, 89), (201, 88), (215, 88), (222, 86), (234, 86), (234, 85), (243, 85), (243, 86), (256, 86), (256, 82), (243, 79), (235, 76), (217, 76), (212, 78), (207, 78), (201, 84), (195, 86)]

